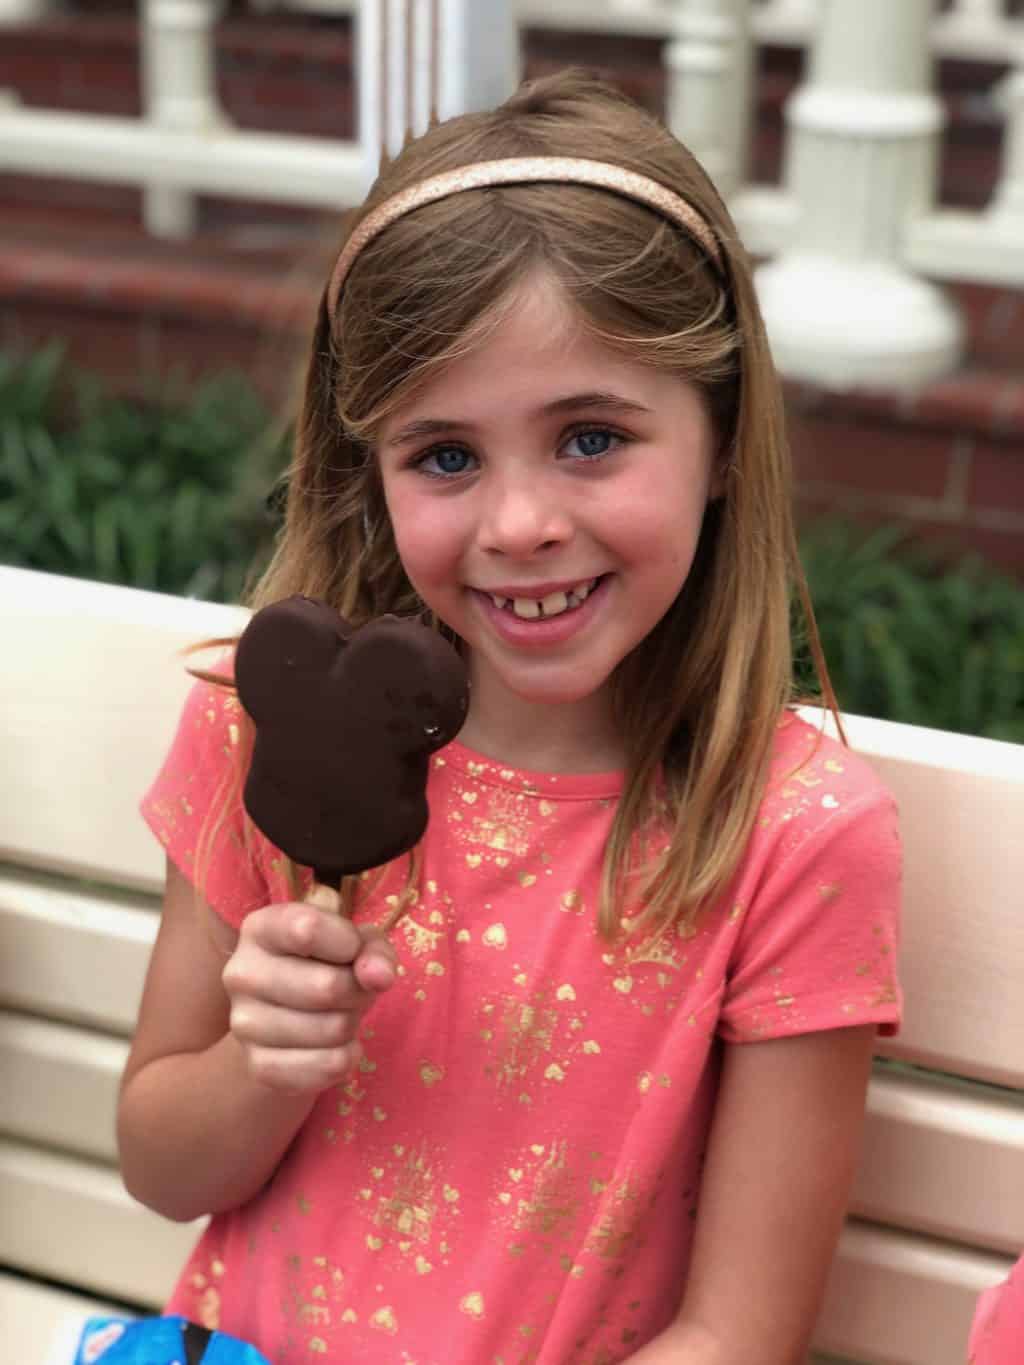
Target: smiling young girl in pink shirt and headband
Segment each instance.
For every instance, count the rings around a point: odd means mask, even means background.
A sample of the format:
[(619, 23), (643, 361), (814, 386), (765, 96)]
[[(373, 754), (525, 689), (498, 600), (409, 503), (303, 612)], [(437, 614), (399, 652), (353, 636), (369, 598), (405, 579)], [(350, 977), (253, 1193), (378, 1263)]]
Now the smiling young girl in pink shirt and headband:
[(246, 824), (235, 698), (193, 692), (119, 1115), (128, 1189), (213, 1215), (169, 1310), (274, 1365), (801, 1358), (898, 1018), (898, 844), (788, 708), (792, 581), (694, 158), (573, 74), (411, 142), (325, 288), (255, 605), (433, 613), (470, 713), (415, 856), (332, 919)]

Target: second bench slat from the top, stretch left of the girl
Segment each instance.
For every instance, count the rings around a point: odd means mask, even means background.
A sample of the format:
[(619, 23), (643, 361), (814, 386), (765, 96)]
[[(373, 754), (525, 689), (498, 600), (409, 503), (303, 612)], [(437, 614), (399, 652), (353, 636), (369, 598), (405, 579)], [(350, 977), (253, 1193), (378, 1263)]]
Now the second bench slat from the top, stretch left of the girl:
[[(157, 860), (154, 880), (161, 878)], [(0, 1006), (127, 1037), (156, 932), (154, 900), (7, 867), (0, 871)]]

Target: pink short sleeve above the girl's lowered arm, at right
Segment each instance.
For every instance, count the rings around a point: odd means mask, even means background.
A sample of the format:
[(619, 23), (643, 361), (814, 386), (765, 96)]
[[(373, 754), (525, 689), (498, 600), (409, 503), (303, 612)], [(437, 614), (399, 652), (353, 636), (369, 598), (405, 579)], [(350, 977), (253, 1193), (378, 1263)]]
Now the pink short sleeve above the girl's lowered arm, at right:
[(814, 797), (799, 834), (776, 841), (739, 902), (718, 1025), (726, 1041), (898, 1026), (896, 803), (874, 779), (859, 793)]

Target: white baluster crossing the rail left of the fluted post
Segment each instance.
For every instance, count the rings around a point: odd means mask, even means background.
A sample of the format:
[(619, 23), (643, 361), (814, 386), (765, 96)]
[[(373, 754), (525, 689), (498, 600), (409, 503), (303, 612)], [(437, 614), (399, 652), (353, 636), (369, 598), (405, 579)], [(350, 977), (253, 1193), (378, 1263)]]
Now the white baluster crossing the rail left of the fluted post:
[[(213, 27), (223, 0), (143, 0), (142, 89), (150, 123), (169, 132), (224, 127), (217, 104)], [(147, 229), (184, 238), (195, 231), (195, 199), (152, 186), (145, 195)]]

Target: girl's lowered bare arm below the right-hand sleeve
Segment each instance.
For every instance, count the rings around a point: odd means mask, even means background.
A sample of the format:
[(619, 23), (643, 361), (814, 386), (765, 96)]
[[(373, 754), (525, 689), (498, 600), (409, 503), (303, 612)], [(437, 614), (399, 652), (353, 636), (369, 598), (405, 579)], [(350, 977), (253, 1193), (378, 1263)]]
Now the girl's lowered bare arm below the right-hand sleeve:
[(801, 1365), (856, 1171), (875, 1029), (726, 1044), (677, 1320), (631, 1365)]

